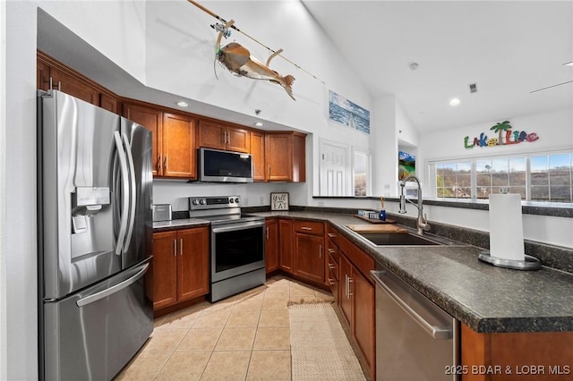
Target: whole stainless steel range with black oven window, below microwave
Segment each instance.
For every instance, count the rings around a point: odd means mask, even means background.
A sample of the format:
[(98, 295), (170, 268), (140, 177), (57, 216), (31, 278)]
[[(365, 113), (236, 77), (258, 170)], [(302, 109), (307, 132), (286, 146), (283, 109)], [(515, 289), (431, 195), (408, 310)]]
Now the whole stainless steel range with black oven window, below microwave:
[(189, 198), (189, 216), (211, 224), (210, 301), (265, 283), (265, 219), (240, 205), (239, 196)]

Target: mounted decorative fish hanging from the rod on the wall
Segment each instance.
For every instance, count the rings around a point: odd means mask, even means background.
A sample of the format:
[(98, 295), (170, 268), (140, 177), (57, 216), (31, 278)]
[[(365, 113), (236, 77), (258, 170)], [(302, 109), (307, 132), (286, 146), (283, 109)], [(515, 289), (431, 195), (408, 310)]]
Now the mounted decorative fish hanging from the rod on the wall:
[(293, 97), (292, 85), (295, 77), (292, 75), (281, 76), (278, 72), (270, 69), (269, 66), (261, 63), (251, 56), (251, 52), (236, 42), (231, 42), (225, 47), (217, 50), (217, 59), (223, 63), (227, 69), (235, 74), (252, 78), (253, 80), (270, 80), (282, 86), (289, 97)]

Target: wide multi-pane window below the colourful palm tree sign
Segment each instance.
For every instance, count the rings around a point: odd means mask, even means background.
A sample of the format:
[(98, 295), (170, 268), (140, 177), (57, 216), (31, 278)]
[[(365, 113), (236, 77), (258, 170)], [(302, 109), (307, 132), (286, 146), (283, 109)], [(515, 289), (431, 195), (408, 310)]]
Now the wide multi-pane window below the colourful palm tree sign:
[(435, 194), (447, 199), (488, 199), (500, 188), (532, 201), (573, 202), (573, 153), (482, 157), (433, 163)]

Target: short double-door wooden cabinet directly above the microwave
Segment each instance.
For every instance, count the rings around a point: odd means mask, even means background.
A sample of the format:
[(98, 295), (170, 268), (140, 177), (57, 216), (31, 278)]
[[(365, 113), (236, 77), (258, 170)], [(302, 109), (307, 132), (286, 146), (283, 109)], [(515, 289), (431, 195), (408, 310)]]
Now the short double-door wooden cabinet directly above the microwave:
[(251, 131), (225, 123), (201, 120), (197, 132), (197, 143), (198, 147), (249, 153)]

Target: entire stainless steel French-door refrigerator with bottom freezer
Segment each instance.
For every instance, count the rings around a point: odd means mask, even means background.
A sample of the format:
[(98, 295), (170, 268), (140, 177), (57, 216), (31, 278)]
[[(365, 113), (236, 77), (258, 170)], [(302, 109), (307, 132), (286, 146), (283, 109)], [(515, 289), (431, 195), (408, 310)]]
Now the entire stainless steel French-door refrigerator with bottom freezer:
[(39, 378), (108, 380), (153, 330), (151, 133), (38, 92)]

